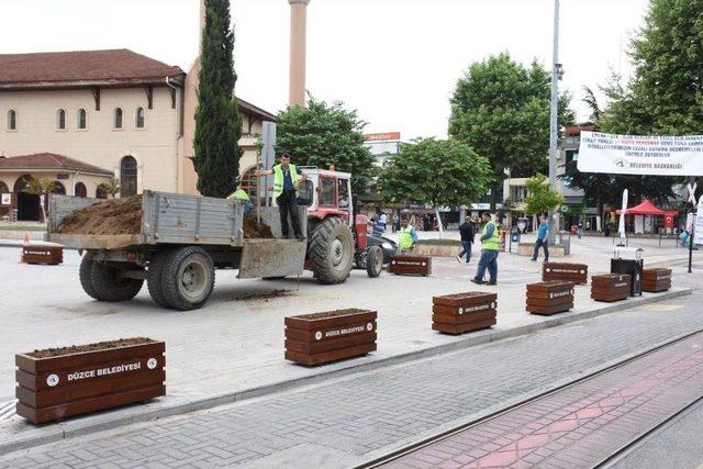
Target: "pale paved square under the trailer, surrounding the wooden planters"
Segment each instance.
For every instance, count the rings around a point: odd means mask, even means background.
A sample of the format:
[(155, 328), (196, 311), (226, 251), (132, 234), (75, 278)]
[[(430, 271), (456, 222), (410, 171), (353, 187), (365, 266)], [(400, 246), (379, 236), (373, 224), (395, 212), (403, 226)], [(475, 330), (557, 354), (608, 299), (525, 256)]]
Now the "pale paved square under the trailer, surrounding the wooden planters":
[[(607, 242), (600, 239), (578, 247), (581, 252), (579, 259), (590, 257), (590, 273), (607, 271)], [(650, 252), (652, 259), (681, 259), (680, 250)], [(267, 282), (236, 280), (233, 271), (219, 271), (209, 304), (192, 312), (157, 308), (148, 298), (146, 288), (131, 302), (100, 303), (90, 300), (78, 282), (80, 258), (76, 252), (66, 252), (65, 264), (54, 267), (20, 265), (18, 259), (19, 249), (0, 249), (3, 270), (0, 284), (0, 298), (3, 299), (3, 308), (0, 309), (0, 323), (3, 324), (0, 406), (11, 401), (14, 394), (15, 353), (126, 336), (152, 336), (166, 340), (168, 397), (146, 406), (71, 418), (48, 428), (37, 429), (16, 416), (0, 418), (0, 446), (18, 438), (60, 437), (64, 432), (75, 431), (81, 425), (104, 423), (110, 418), (136, 418), (145, 412), (164, 409), (188, 409), (207, 400), (231, 402), (242, 398), (236, 394), (238, 392), (255, 395), (257, 390), (276, 383), (288, 386), (294, 380), (356, 366), (373, 366), (419, 350), (488, 342), (545, 324), (560, 323), (573, 314), (621, 308), (595, 303), (589, 298), (589, 287), (579, 287), (572, 313), (553, 319), (529, 315), (524, 311), (524, 284), (539, 280), (540, 265), (507, 254), (499, 258), (499, 287), (480, 287), (499, 294), (498, 325), (492, 331), (461, 337), (445, 336), (429, 327), (433, 295), (477, 289), (468, 282), (476, 266), (458, 264), (454, 258), (435, 258), (434, 272), (428, 278), (395, 277), (384, 272), (379, 279), (369, 279), (366, 272), (354, 271), (346, 283), (334, 287), (319, 286), (310, 275), (303, 276), (300, 282), (294, 279)], [(680, 271), (677, 270), (678, 276)], [(275, 290), (283, 292), (271, 294)], [(378, 311), (377, 353), (316, 369), (283, 360), (286, 315), (341, 306)], [(215, 402), (222, 397), (226, 399)]]

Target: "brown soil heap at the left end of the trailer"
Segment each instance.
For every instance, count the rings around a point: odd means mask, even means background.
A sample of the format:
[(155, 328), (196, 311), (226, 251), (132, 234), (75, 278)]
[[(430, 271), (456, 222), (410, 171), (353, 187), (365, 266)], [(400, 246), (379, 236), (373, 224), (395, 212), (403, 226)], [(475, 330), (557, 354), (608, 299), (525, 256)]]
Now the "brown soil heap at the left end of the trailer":
[(142, 196), (103, 200), (66, 216), (57, 233), (121, 235), (142, 232)]

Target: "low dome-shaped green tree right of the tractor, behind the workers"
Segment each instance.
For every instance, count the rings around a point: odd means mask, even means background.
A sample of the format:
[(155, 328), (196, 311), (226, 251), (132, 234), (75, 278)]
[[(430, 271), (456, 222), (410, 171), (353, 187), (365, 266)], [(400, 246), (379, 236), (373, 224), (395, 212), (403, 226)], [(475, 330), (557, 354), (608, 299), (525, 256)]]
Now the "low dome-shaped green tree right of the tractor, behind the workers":
[(488, 190), (491, 168), (467, 144), (456, 138), (416, 138), (402, 144), (387, 160), (379, 178), (388, 201), (402, 200), (442, 205), (469, 205)]

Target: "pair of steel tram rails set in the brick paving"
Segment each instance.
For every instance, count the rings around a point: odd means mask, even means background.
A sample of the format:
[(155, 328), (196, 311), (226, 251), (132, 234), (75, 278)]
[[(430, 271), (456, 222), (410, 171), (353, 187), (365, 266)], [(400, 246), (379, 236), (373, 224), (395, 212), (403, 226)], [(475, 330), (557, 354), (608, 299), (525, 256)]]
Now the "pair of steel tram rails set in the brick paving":
[[(384, 455), (375, 457), (373, 459), (367, 460), (358, 466), (355, 466), (355, 468), (357, 469), (367, 469), (367, 468), (379, 468), (379, 467), (383, 467), (386, 465), (392, 464), (394, 461), (398, 461), (399, 459), (412, 455), (414, 453), (417, 453), (420, 450), (422, 450), (423, 448), (426, 448), (431, 445), (444, 442), (455, 435), (461, 434), (462, 432), (467, 432), (468, 429), (471, 429), (473, 427), (477, 427), (481, 424), (491, 422), (493, 420), (496, 420), (501, 416), (504, 416), (506, 414), (510, 414), (516, 410), (520, 410), (521, 407), (525, 407), (529, 404), (536, 403), (538, 401), (545, 400), (549, 397), (553, 397), (557, 393), (560, 393), (562, 391), (569, 390), (570, 388), (573, 388), (579, 384), (583, 384), (588, 381), (594, 380), (598, 377), (601, 377), (605, 373), (612, 372), (614, 370), (617, 370), (618, 368), (625, 367), (627, 365), (634, 364), (637, 360), (641, 360), (645, 357), (648, 357), (652, 354), (656, 354), (658, 351), (665, 350), (669, 347), (672, 347), (677, 344), (680, 344), (687, 339), (690, 339), (699, 334), (703, 334), (703, 328), (702, 330), (696, 330), (694, 332), (691, 332), (689, 334), (684, 334), (682, 336), (676, 337), (671, 340), (665, 342), (662, 344), (657, 345), (656, 347), (649, 348), (647, 350), (644, 350), (641, 353), (638, 353), (636, 355), (629, 356), (623, 360), (620, 360), (617, 362), (611, 364), (604, 368), (594, 370), (592, 372), (589, 372), (588, 375), (581, 376), (579, 378), (576, 378), (573, 380), (570, 380), (568, 382), (561, 383), (559, 386), (553, 387), (548, 390), (545, 390), (543, 392), (539, 392), (535, 395), (531, 395), (527, 399), (524, 399), (522, 401), (518, 401), (516, 403), (513, 403), (509, 406), (505, 406), (499, 411), (492, 412), (490, 414), (483, 415), (479, 418), (472, 420), (470, 422), (466, 422), (462, 423), (461, 425), (457, 425), (456, 427), (449, 428), (449, 429), (445, 429), (440, 433), (437, 433), (435, 435), (432, 435), (429, 437), (423, 438), (421, 440), (417, 440), (415, 443), (412, 443), (410, 445), (403, 446), (402, 448), (398, 448), (394, 449), (392, 451), (389, 451)], [(698, 399), (692, 400), (691, 402), (689, 402), (685, 406), (679, 409), (678, 411), (673, 412), (672, 414), (670, 414), (666, 420), (661, 421), (660, 423), (658, 423), (657, 425), (651, 426), (650, 428), (648, 428), (647, 431), (643, 432), (640, 435), (638, 435), (637, 437), (633, 438), (632, 440), (627, 442), (626, 444), (622, 445), (618, 449), (616, 449), (615, 451), (612, 451), (609, 456), (603, 457), (600, 461), (598, 461), (595, 465), (592, 465), (592, 467), (609, 467), (610, 465), (612, 465), (614, 461), (620, 460), (622, 457), (624, 457), (625, 455), (627, 455), (632, 449), (636, 448), (641, 442), (646, 440), (649, 436), (656, 434), (660, 428), (666, 427), (666, 425), (668, 423), (670, 423), (672, 420), (676, 420), (678, 416), (684, 414), (688, 410), (690, 410), (691, 407), (695, 406), (696, 404), (699, 404), (701, 401), (703, 400), (703, 394), (701, 394)]]

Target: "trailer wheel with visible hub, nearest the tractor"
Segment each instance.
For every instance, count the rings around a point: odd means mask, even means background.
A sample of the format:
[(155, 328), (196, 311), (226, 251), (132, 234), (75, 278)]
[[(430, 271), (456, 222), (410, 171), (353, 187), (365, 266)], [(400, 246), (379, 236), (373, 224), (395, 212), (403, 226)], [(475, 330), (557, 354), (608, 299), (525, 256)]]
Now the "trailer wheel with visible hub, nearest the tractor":
[(215, 283), (212, 258), (201, 247), (187, 246), (168, 253), (160, 275), (161, 292), (175, 310), (196, 310), (208, 301)]

